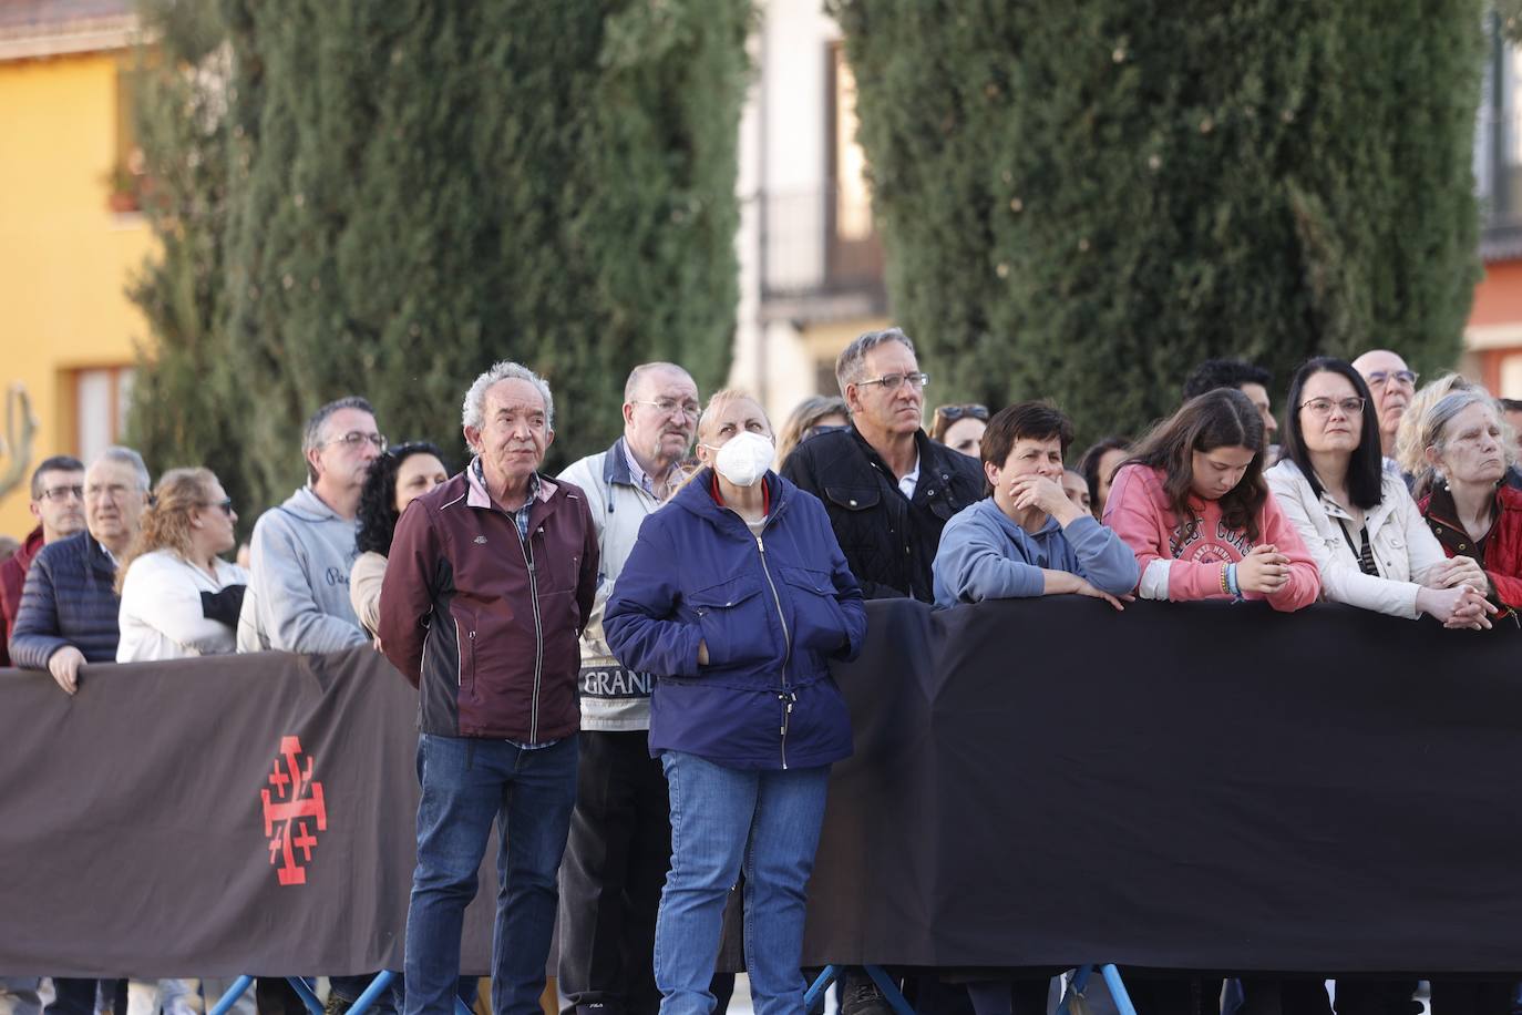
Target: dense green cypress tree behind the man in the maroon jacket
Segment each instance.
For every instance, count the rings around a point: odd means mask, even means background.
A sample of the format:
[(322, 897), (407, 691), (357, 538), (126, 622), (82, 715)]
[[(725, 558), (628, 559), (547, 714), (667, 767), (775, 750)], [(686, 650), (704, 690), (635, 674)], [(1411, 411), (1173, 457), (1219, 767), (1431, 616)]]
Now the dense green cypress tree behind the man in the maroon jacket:
[[(635, 364), (723, 374), (749, 0), (222, 0), (218, 409), (254, 504), (364, 394), (463, 455), (498, 359), (556, 394), (546, 467), (604, 446)], [(157, 368), (157, 367), (155, 367)]]

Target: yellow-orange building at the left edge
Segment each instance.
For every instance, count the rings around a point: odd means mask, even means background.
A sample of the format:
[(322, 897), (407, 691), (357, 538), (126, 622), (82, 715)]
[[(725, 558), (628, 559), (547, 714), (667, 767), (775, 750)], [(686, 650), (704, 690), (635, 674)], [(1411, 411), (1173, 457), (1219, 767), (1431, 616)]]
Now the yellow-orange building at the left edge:
[[(37, 432), (0, 411), (0, 475), (120, 437), (134, 341), (126, 285), (152, 248), (135, 208), (132, 0), (0, 3), (0, 387), (21, 387)], [(0, 498), (0, 533), (33, 525), (26, 482)]]

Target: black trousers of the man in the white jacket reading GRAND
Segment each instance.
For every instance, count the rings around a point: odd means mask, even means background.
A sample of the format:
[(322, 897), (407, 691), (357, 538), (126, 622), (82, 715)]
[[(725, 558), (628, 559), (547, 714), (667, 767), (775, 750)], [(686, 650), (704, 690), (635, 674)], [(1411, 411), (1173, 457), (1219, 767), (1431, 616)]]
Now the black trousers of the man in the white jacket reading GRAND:
[(654, 1015), (656, 910), (671, 869), (671, 803), (645, 730), (583, 730), (571, 837), (560, 864), (566, 1010)]

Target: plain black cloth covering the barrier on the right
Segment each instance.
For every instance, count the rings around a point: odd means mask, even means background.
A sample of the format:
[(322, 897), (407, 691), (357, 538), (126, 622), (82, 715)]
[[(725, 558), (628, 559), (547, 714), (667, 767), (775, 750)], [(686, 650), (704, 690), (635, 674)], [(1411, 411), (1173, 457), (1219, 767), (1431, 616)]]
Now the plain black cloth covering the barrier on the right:
[(874, 603), (805, 963), (1522, 969), (1522, 632)]

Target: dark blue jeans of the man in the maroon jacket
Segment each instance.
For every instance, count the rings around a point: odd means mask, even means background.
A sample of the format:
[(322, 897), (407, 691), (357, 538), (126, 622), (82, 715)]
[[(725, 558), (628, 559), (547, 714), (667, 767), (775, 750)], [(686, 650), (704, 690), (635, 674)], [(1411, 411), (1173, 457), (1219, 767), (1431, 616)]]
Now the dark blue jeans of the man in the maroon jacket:
[(451, 1015), (460, 931), (498, 823), (492, 1010), (537, 1015), (554, 933), (556, 872), (575, 805), (577, 740), (522, 750), (505, 740), (417, 741), (417, 870), (406, 912), (406, 1015)]

